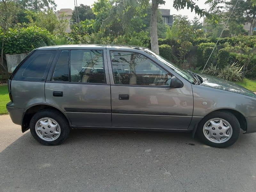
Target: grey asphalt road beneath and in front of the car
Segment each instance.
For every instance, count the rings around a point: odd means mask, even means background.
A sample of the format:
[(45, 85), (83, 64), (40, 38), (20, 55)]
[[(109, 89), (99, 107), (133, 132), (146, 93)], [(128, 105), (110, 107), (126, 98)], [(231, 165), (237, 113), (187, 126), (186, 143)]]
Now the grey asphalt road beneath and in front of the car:
[(256, 191), (256, 134), (225, 149), (188, 133), (74, 130), (43, 146), (0, 116), (0, 191)]

